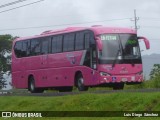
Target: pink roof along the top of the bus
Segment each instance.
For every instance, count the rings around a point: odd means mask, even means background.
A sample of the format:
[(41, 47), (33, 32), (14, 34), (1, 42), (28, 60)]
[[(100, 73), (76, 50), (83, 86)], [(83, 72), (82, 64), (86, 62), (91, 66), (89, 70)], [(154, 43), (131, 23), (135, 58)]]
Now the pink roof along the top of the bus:
[(130, 34), (137, 33), (136, 30), (129, 29), (129, 28), (104, 27), (104, 26), (94, 25), (92, 27), (68, 27), (68, 28), (61, 29), (61, 30), (44, 31), (40, 35), (17, 38), (16, 41), (51, 36), (51, 35), (58, 35), (58, 34), (70, 33), (70, 32), (82, 31), (82, 30), (91, 30), (94, 32), (95, 35), (100, 35), (100, 34), (105, 34), (105, 33), (130, 33)]

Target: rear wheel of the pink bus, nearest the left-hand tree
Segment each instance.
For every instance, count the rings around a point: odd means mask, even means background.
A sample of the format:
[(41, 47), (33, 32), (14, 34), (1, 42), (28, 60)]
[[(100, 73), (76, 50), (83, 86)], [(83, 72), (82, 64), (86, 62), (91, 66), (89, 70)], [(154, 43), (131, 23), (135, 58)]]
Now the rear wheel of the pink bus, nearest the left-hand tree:
[(30, 77), (30, 79), (29, 79), (28, 90), (31, 93), (42, 93), (44, 91), (43, 89), (36, 88), (34, 77)]

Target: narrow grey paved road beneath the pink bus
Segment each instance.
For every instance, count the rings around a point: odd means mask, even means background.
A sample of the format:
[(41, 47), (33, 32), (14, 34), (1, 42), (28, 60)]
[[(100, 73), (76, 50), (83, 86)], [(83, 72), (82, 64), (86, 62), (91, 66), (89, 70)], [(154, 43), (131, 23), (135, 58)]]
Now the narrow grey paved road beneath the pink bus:
[(160, 89), (129, 89), (129, 90), (97, 90), (86, 92), (45, 92), (45, 93), (29, 93), (27, 90), (1, 90), (0, 96), (65, 96), (84, 93), (92, 94), (111, 94), (111, 93), (127, 93), (127, 92), (160, 92)]

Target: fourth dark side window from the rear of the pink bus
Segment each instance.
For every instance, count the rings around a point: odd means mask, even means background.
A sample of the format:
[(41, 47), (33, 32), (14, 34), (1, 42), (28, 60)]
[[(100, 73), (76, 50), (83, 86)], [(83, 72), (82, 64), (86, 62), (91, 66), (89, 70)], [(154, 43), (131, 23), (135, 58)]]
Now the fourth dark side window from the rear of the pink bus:
[(50, 38), (42, 38), (41, 54), (48, 54), (49, 53), (49, 40), (50, 40)]

